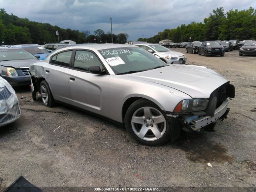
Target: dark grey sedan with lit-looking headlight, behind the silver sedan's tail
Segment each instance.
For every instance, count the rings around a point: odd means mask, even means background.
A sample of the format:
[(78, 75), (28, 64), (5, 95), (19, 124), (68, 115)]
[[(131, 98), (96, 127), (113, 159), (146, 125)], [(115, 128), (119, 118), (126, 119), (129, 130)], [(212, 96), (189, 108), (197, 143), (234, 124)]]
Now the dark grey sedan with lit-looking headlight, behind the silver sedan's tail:
[(30, 84), (29, 67), (38, 59), (24, 49), (0, 49), (0, 76), (12, 86)]

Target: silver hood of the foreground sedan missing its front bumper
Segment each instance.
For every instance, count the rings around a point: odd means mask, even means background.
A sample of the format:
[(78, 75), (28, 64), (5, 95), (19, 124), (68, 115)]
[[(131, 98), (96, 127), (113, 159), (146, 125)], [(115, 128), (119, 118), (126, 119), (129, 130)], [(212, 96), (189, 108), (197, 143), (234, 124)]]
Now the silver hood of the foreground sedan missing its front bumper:
[(209, 98), (219, 86), (227, 82), (220, 74), (202, 66), (170, 65), (154, 70), (130, 74), (135, 80), (164, 85), (188, 94), (192, 98)]

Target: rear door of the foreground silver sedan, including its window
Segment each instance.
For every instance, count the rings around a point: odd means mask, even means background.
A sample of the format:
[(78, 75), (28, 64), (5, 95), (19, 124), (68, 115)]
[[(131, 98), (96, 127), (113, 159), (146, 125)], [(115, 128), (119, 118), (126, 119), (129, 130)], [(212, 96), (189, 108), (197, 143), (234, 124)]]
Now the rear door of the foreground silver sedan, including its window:
[(73, 50), (68, 50), (55, 54), (44, 67), (45, 79), (50, 86), (52, 96), (55, 100), (68, 104), (72, 104), (68, 82), (72, 52)]

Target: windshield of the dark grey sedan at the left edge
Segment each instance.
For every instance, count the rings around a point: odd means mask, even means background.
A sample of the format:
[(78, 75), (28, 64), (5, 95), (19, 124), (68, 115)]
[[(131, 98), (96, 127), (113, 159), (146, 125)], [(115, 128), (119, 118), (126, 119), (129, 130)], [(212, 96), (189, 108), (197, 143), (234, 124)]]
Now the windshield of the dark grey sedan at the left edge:
[(36, 59), (36, 57), (23, 49), (0, 49), (0, 61)]

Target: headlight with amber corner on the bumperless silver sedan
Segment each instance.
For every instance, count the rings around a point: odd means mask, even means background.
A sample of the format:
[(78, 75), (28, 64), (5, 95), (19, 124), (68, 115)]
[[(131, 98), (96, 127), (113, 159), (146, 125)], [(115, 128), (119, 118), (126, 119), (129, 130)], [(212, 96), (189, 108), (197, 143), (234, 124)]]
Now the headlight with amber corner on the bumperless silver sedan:
[(208, 99), (185, 99), (177, 104), (174, 112), (202, 111), (206, 109), (208, 102)]

